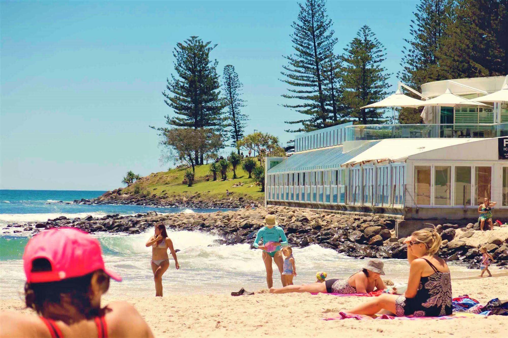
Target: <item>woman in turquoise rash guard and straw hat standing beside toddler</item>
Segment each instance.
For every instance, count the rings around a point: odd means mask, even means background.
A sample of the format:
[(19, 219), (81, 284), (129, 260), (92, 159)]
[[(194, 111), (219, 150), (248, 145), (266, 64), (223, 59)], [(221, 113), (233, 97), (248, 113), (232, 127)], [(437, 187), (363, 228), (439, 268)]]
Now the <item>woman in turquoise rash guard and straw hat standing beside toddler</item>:
[[(266, 284), (268, 284), (268, 288), (273, 286), (273, 269), (272, 269), (272, 258), (277, 267), (279, 268), (280, 280), (282, 282), (282, 286), (285, 286), (284, 279), (282, 278), (282, 269), (284, 264), (284, 259), (282, 258), (282, 254), (280, 253), (281, 245), (288, 245), (288, 239), (285, 236), (284, 230), (280, 226), (277, 226), (277, 222), (275, 221), (275, 216), (266, 215), (265, 217), (266, 225), (259, 229), (258, 234), (256, 235), (256, 239), (254, 240), (253, 246), (257, 249), (263, 250), (263, 261), (265, 262), (266, 268)], [(263, 245), (259, 245), (259, 241), (263, 239)], [(272, 242), (272, 245), (275, 245), (275, 251), (267, 252), (267, 244)]]

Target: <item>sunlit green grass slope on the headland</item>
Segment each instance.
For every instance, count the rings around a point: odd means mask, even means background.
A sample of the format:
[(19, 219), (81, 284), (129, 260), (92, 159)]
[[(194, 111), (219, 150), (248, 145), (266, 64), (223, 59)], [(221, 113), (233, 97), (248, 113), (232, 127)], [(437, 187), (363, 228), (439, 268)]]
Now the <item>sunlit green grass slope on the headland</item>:
[[(259, 165), (259, 164), (258, 164)], [(248, 199), (262, 200), (264, 193), (261, 192), (261, 187), (254, 185), (254, 180), (248, 178), (248, 173), (244, 172), (241, 164), (237, 167), (237, 179), (231, 180), (233, 171), (228, 172), (228, 180), (220, 181), (220, 173), (217, 173), (217, 181), (212, 181), (212, 174), (209, 173), (209, 164), (196, 166), (195, 181), (192, 187), (182, 184), (183, 174), (186, 168), (171, 169), (167, 172), (152, 173), (143, 179), (135, 182), (131, 186), (122, 190), (122, 193), (129, 195), (134, 194), (136, 187), (145, 195), (159, 195), (159, 196), (186, 196), (194, 197), (202, 200), (207, 199), (220, 199), (226, 197), (226, 189), (234, 194), (232, 197), (238, 198), (240, 196)], [(206, 182), (205, 177), (210, 177), (210, 181)], [(233, 184), (242, 182), (241, 187), (232, 187)], [(249, 187), (253, 185), (252, 187)], [(136, 190), (138, 190), (136, 189)], [(199, 196), (197, 196), (199, 194)]]

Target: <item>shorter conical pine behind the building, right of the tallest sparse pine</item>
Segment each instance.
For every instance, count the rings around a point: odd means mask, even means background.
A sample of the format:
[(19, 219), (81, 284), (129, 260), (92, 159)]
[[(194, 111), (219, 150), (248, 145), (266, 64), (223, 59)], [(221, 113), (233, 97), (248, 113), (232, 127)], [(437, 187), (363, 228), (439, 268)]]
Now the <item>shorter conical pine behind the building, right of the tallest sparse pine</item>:
[(391, 74), (381, 65), (385, 61), (386, 48), (375, 34), (364, 25), (357, 37), (344, 48), (344, 102), (349, 116), (357, 118), (361, 124), (382, 123), (383, 111), (378, 108), (360, 107), (383, 99), (387, 94), (387, 82)]

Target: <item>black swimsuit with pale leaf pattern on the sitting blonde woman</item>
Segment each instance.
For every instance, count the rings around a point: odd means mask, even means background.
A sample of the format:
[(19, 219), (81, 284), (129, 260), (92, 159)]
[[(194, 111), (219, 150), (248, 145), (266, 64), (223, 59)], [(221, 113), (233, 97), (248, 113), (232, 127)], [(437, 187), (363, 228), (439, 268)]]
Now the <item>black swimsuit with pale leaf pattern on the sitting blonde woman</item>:
[[(424, 258), (425, 259), (425, 258)], [(452, 281), (450, 273), (443, 273), (427, 259), (434, 273), (420, 279), (413, 298), (400, 296), (395, 301), (397, 316), (438, 317), (452, 314)]]

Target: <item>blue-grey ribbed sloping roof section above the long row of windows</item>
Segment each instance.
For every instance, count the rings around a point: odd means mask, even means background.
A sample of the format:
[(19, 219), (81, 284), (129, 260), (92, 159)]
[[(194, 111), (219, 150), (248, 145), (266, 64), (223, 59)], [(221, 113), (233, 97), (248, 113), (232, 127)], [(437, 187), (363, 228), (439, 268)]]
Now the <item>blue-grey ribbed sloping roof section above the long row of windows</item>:
[(268, 174), (299, 172), (306, 170), (340, 168), (340, 165), (382, 141), (371, 141), (347, 153), (342, 153), (343, 146), (307, 150), (291, 155), (288, 159), (268, 170)]

